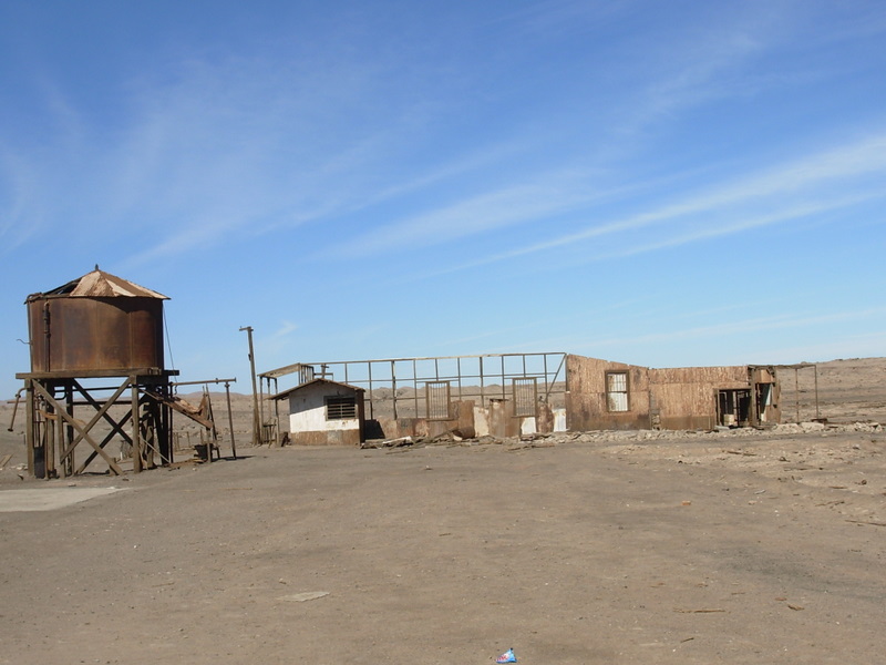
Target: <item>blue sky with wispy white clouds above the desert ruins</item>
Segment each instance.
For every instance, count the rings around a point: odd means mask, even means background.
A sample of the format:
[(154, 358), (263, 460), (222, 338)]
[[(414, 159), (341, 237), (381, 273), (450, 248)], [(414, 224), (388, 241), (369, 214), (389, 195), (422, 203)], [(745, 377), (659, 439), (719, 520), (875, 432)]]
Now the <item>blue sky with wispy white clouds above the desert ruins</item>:
[(259, 371), (886, 355), (885, 71), (879, 1), (7, 0), (0, 396), (96, 263), (243, 392), (241, 326)]

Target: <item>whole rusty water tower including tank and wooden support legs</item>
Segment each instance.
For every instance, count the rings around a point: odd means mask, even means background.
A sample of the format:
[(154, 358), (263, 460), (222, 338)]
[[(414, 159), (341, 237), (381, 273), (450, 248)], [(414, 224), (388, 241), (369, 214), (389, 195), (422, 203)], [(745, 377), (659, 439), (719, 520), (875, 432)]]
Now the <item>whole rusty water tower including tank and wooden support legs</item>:
[[(169, 377), (178, 372), (164, 365), (165, 299), (97, 266), (28, 296), (31, 371), (17, 377), (24, 380), (28, 395), (25, 441), (32, 474), (81, 473), (96, 458), (110, 472), (121, 473), (120, 460), (105, 451), (115, 437), (130, 443), (134, 471), (154, 466), (156, 457), (161, 463), (172, 461)], [(123, 381), (87, 386), (115, 377)], [(95, 413), (75, 418), (75, 407), (84, 406)], [(78, 446), (89, 453), (80, 466), (74, 461)]]

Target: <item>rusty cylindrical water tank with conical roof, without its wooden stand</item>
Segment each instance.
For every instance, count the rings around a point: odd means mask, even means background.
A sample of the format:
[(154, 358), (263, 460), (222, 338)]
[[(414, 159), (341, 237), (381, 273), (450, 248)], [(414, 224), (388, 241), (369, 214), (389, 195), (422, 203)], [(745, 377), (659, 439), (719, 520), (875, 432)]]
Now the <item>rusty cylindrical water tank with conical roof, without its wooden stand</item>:
[(114, 376), (162, 370), (166, 299), (97, 266), (59, 288), (28, 296), (31, 372)]

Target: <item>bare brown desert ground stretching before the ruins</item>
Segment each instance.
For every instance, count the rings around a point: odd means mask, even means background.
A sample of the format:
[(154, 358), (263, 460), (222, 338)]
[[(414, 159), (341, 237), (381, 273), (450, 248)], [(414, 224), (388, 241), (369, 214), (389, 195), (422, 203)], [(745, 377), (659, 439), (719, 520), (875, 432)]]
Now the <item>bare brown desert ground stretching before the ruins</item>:
[(882, 663), (886, 359), (818, 366), (826, 423), (812, 379), (765, 431), (364, 450), (238, 396), (237, 460), (51, 481), (4, 405), (0, 505), (109, 491), (0, 512), (0, 663)]

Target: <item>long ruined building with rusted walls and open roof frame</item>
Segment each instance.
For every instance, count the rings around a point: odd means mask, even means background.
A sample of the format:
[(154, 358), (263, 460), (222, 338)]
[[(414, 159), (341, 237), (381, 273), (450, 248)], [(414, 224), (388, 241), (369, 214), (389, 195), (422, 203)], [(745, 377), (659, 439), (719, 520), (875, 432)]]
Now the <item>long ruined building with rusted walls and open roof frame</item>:
[[(271, 390), (290, 375), (298, 375), (295, 388)], [(297, 443), (766, 427), (781, 418), (775, 366), (652, 369), (564, 352), (502, 354), (299, 362), (260, 378), (280, 433)], [(344, 396), (348, 418), (337, 401)]]

